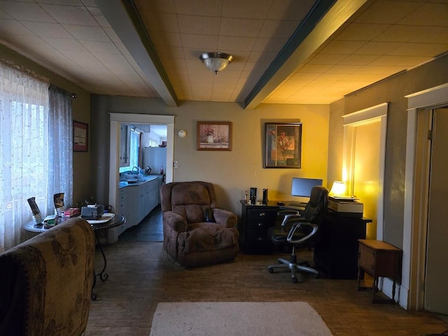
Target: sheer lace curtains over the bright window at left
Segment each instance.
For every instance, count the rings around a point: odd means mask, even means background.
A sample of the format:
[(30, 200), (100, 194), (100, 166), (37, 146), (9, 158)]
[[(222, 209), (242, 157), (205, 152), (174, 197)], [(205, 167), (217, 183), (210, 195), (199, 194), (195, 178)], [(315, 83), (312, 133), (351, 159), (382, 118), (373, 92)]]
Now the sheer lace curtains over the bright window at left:
[(50, 118), (47, 80), (0, 61), (0, 252), (23, 240), (22, 224), (32, 219), (29, 197), (43, 216), (54, 213), (54, 193), (72, 197), (71, 187), (61, 188), (61, 180), (73, 185), (65, 146), (72, 139), (71, 109), (64, 118), (57, 110)]

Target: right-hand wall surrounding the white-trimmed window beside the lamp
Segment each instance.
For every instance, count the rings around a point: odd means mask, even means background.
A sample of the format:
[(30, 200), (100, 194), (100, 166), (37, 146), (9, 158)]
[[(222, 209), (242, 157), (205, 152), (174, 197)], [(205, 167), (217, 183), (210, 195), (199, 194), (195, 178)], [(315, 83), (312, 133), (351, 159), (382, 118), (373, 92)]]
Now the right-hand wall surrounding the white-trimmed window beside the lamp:
[[(330, 105), (329, 162), (342, 162), (342, 116), (388, 102), (386, 167), (384, 167), (384, 240), (402, 248), (407, 99), (405, 95), (448, 82), (448, 55), (349, 94)], [(329, 169), (328, 180), (340, 179), (340, 169)], [(380, 224), (378, 224), (380, 225)]]

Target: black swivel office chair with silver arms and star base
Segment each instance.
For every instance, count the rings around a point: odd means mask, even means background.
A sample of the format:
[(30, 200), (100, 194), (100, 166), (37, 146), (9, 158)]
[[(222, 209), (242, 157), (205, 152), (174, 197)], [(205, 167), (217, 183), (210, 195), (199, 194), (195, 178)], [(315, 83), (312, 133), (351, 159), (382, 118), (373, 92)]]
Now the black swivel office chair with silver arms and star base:
[(308, 262), (299, 260), (295, 255), (295, 248), (313, 247), (318, 239), (318, 223), (323, 214), (327, 211), (328, 189), (322, 186), (315, 186), (311, 189), (311, 197), (305, 206), (302, 214), (293, 211), (279, 211), (279, 215), (284, 215), (280, 226), (269, 228), (268, 235), (274, 245), (284, 246), (288, 244), (293, 247), (290, 260), (279, 258), (278, 265), (269, 265), (269, 273), (274, 273), (276, 268), (286, 268), (291, 270), (294, 283), (298, 280), (295, 277), (296, 269), (302, 272), (314, 274), (318, 277), (318, 271), (309, 267)]

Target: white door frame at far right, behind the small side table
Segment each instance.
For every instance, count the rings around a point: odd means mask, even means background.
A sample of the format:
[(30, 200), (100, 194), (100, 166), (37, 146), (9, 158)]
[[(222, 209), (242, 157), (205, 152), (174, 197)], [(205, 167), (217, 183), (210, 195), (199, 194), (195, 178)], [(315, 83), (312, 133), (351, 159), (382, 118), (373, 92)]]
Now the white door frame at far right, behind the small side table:
[[(426, 209), (428, 181), (428, 134), (417, 132), (429, 123), (428, 109), (448, 104), (448, 83), (405, 96), (407, 100), (407, 139), (405, 168), (405, 209), (403, 225), (402, 284), (400, 297), (405, 308), (421, 310), (424, 307), (426, 255)], [(424, 125), (423, 125), (424, 126)], [(426, 129), (428, 130), (428, 129)], [(424, 143), (424, 144), (423, 144)]]

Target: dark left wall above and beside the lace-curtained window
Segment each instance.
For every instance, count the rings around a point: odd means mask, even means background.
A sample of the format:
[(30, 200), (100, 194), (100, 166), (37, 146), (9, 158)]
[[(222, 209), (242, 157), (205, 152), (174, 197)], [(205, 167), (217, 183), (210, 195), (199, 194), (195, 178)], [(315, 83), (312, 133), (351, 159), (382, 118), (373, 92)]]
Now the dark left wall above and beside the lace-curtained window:
[[(27, 57), (10, 50), (5, 45), (0, 44), (0, 58), (14, 62), (18, 66), (23, 66), (38, 73), (50, 80), (50, 83), (68, 92), (76, 93), (78, 97), (73, 99), (73, 120), (82, 123), (90, 123), (90, 93), (74, 85), (56, 73), (45, 69)], [(89, 130), (90, 133), (91, 130)], [(89, 145), (90, 146), (90, 145)], [(90, 151), (73, 153), (73, 202), (80, 202), (92, 196), (90, 184)], [(67, 204), (68, 205), (68, 204)]]

